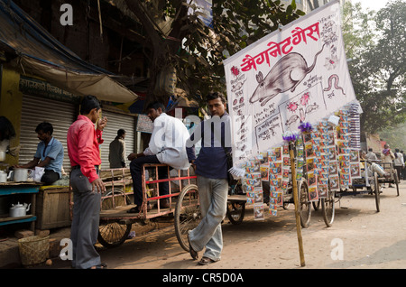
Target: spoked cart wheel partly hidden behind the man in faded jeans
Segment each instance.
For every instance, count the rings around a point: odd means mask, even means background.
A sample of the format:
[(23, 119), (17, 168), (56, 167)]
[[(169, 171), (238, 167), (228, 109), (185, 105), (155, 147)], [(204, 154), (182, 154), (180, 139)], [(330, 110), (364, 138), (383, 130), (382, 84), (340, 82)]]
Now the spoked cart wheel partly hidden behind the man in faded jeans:
[(178, 197), (175, 208), (175, 234), (180, 246), (189, 252), (189, 230), (198, 226), (201, 220), (198, 202), (198, 186), (189, 184)]

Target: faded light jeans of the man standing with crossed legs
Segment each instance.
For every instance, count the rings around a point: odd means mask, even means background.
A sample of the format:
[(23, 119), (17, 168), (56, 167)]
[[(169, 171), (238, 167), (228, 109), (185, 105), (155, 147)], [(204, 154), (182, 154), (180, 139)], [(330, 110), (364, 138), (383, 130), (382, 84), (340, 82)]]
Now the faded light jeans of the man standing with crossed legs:
[(204, 257), (220, 260), (223, 250), (221, 221), (226, 217), (228, 181), (208, 179), (198, 175), (198, 197), (203, 219), (189, 232), (190, 245), (195, 251), (206, 247)]

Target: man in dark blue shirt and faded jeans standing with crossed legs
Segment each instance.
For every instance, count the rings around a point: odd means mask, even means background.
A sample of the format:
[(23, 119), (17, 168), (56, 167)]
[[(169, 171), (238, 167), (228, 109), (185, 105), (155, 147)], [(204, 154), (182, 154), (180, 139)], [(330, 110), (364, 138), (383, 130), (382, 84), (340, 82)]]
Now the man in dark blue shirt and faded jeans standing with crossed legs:
[[(228, 194), (226, 151), (231, 149), (226, 98), (214, 92), (208, 95), (207, 103), (212, 119), (200, 123), (187, 144), (189, 162), (198, 175), (198, 195), (203, 217), (198, 227), (189, 231), (189, 251), (196, 260), (198, 252), (206, 247), (198, 262), (201, 265), (219, 261), (223, 250), (221, 222), (226, 216)], [(202, 144), (196, 159), (193, 143), (200, 139)]]

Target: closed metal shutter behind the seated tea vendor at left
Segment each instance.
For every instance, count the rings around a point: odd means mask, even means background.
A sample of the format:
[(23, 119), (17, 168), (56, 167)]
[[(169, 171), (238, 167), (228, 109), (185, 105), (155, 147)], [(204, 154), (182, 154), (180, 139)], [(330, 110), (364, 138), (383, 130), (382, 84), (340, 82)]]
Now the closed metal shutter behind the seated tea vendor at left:
[(35, 128), (42, 122), (49, 122), (53, 126), (53, 134), (63, 145), (63, 168), (70, 171), (70, 162), (67, 147), (67, 134), (69, 126), (76, 120), (74, 104), (60, 102), (42, 97), (23, 95), (20, 134), (19, 163), (31, 162), (40, 140), (35, 133)]

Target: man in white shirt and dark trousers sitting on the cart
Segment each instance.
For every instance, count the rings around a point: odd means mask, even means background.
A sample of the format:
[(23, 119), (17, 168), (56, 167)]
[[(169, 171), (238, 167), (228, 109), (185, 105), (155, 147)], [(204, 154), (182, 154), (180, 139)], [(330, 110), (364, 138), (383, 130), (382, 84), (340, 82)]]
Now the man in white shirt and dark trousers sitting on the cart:
[[(189, 160), (186, 153), (186, 141), (189, 132), (186, 125), (180, 119), (166, 115), (163, 111), (165, 106), (154, 102), (147, 107), (148, 117), (153, 122), (153, 130), (150, 143), (143, 153), (131, 153), (128, 160), (131, 161), (130, 171), (134, 185), (134, 204), (129, 213), (138, 213), (143, 205), (142, 171), (145, 163), (164, 163), (177, 170), (188, 170)], [(159, 179), (168, 178), (168, 168), (158, 169)], [(169, 182), (159, 184), (160, 196), (169, 193)], [(147, 208), (151, 208), (147, 206)], [(160, 208), (169, 208), (169, 200), (161, 199)]]

